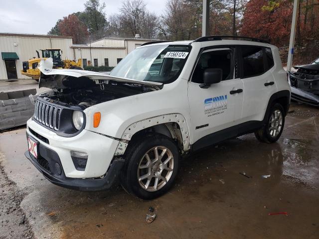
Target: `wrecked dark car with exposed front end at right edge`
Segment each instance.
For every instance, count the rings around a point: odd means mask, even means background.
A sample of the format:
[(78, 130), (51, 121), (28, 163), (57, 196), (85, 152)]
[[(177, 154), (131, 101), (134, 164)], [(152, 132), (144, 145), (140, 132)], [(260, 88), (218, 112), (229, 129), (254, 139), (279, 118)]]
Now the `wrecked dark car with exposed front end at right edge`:
[(288, 72), (292, 100), (319, 106), (319, 65), (295, 66)]

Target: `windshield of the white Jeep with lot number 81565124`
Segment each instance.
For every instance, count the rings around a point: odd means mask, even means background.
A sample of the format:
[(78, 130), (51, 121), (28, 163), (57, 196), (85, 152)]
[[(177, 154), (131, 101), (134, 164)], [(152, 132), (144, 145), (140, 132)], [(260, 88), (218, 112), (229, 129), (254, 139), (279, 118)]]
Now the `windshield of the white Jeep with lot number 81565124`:
[(190, 46), (155, 45), (137, 48), (110, 73), (112, 76), (171, 83), (184, 67)]

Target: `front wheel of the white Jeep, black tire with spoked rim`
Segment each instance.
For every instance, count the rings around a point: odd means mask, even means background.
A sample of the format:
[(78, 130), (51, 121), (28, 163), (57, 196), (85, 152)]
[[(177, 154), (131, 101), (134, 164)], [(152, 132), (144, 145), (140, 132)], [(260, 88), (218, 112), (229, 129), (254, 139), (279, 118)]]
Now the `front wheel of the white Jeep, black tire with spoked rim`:
[[(162, 157), (154, 162), (156, 151)], [(125, 158), (121, 184), (129, 194), (150, 200), (160, 197), (173, 185), (179, 167), (179, 152), (167, 136), (150, 134), (137, 139), (128, 147)]]

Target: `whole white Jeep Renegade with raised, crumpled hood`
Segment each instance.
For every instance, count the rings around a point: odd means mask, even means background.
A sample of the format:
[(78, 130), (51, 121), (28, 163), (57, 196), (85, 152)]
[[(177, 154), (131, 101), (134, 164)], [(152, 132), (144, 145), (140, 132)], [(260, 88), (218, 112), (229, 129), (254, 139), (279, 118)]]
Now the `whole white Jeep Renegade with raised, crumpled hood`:
[(255, 132), (280, 137), (290, 86), (278, 48), (248, 37), (152, 42), (108, 75), (41, 62), (26, 157), (52, 183), (143, 199), (172, 186), (181, 155)]

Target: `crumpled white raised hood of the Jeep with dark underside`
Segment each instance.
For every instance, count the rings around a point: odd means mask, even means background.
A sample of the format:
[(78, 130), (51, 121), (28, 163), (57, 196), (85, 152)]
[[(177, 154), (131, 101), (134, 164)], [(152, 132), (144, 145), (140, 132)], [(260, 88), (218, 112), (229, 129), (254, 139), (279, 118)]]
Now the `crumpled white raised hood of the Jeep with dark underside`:
[(39, 81), (39, 88), (46, 87), (51, 89), (65, 89), (71, 86), (87, 86), (92, 84), (94, 81), (96, 84), (108, 83), (108, 81), (117, 81), (130, 84), (139, 84), (146, 86), (153, 86), (160, 88), (162, 83), (149, 82), (149, 81), (138, 81), (133, 79), (121, 78), (116, 76), (111, 76), (105, 73), (75, 70), (75, 69), (52, 69), (53, 60), (52, 58), (47, 58), (46, 60), (41, 60), (38, 69), (43, 73)]

